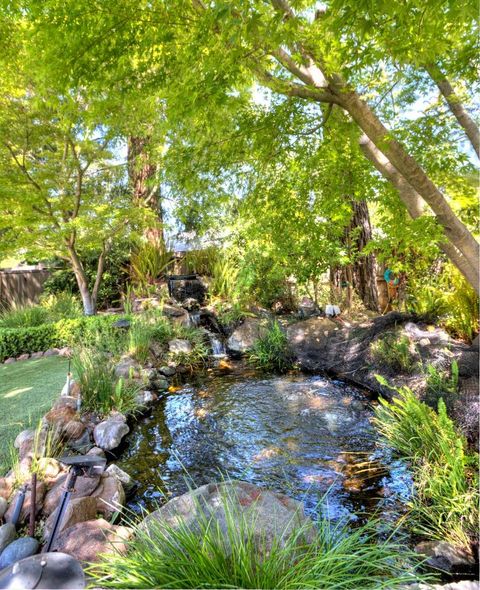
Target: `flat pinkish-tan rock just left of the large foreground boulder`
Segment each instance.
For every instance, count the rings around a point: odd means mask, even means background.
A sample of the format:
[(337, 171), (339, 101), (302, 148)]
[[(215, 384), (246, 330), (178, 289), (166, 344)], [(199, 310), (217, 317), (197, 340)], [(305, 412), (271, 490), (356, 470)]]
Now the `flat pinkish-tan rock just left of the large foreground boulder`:
[(53, 550), (68, 553), (82, 562), (96, 562), (100, 555), (125, 553), (126, 541), (133, 531), (115, 526), (103, 518), (77, 523), (65, 529), (55, 540)]

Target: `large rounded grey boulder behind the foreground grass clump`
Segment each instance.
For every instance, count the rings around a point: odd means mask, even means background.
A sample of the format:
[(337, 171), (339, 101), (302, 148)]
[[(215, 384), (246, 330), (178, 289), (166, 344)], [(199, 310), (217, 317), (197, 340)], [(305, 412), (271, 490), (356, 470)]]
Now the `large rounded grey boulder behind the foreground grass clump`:
[(313, 523), (305, 516), (301, 502), (243, 481), (207, 484), (173, 498), (149, 514), (141, 526), (148, 531), (157, 521), (173, 528), (186, 526), (195, 530), (205, 519), (213, 517), (225, 533), (226, 551), (229, 552), (232, 548), (228, 540), (225, 506), (230, 517), (241, 519), (248, 529), (253, 527), (258, 551), (268, 552), (274, 540), (282, 543), (300, 527), (305, 527), (307, 538), (303, 541), (313, 538)]

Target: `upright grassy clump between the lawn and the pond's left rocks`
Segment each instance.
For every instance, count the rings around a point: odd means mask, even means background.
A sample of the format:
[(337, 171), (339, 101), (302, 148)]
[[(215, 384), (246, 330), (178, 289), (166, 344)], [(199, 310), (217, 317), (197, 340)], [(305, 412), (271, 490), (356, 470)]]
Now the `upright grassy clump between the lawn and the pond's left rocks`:
[(91, 348), (74, 352), (73, 369), (82, 392), (82, 408), (107, 415), (112, 410), (135, 411), (138, 387), (115, 377), (115, 367), (104, 353)]

